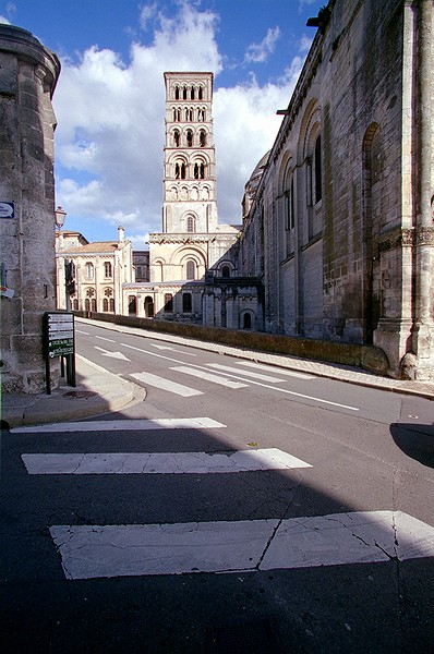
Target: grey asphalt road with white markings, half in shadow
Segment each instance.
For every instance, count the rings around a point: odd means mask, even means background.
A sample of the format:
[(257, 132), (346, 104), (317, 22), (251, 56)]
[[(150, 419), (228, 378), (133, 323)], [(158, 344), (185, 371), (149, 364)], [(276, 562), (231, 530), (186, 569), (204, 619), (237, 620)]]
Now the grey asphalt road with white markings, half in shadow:
[(147, 397), (2, 434), (2, 651), (433, 652), (432, 402), (76, 337)]

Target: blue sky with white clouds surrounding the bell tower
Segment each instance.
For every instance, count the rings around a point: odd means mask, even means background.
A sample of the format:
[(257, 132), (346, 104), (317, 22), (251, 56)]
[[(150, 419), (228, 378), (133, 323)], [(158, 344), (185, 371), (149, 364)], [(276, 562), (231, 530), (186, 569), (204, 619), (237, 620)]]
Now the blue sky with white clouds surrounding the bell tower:
[(62, 63), (56, 202), (89, 241), (161, 230), (164, 71), (213, 71), (219, 221), (241, 221), (326, 0), (0, 0)]

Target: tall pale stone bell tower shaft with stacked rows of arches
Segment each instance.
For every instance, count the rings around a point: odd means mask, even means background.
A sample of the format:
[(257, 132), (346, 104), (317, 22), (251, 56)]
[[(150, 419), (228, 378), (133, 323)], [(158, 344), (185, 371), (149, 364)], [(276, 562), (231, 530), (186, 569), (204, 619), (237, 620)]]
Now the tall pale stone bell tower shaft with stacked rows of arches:
[(162, 232), (217, 231), (213, 73), (166, 72)]

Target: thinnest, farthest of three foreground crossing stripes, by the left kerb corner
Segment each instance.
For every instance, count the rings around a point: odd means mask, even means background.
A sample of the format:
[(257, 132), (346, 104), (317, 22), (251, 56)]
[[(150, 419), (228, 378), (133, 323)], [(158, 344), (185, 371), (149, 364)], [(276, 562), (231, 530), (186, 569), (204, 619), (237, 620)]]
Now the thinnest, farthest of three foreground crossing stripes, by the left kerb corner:
[(218, 429), (226, 427), (212, 417), (156, 417), (154, 420), (107, 420), (51, 423), (33, 427), (13, 427), (13, 434), (39, 432), (132, 432), (149, 429)]

